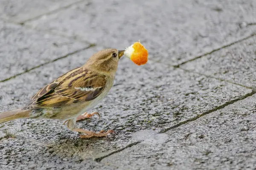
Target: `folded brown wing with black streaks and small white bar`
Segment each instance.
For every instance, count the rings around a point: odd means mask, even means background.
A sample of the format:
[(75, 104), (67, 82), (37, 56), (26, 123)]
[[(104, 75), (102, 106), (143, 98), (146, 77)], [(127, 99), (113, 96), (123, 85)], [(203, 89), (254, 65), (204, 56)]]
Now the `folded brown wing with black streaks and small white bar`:
[(104, 90), (106, 77), (76, 68), (42, 88), (32, 99), (30, 109), (60, 107), (95, 99)]

